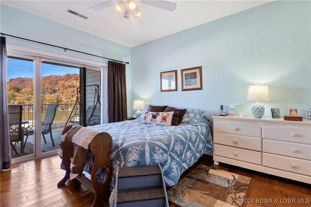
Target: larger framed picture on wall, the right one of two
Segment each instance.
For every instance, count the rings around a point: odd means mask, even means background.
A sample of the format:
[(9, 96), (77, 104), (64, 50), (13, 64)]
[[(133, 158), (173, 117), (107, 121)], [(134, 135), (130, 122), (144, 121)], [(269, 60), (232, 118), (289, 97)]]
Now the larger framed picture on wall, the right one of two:
[(181, 90), (202, 90), (202, 66), (181, 70)]

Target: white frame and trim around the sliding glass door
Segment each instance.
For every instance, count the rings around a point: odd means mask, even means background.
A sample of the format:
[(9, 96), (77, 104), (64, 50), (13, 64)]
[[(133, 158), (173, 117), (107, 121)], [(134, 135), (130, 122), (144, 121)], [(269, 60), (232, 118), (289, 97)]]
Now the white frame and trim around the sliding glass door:
[[(14, 45), (7, 45), (8, 56), (24, 57), (34, 60), (34, 107), (35, 107), (35, 128), (41, 128), (41, 112), (39, 111), (41, 103), (41, 62), (50, 61), (59, 64), (70, 64), (78, 67), (86, 67), (88, 69), (100, 70), (101, 71), (101, 120), (102, 123), (107, 123), (107, 68), (108, 64), (89, 61), (86, 59), (75, 58), (65, 55), (54, 54), (51, 52), (23, 48)], [(41, 130), (35, 130), (35, 152), (33, 155), (22, 156), (12, 160), (12, 163), (18, 163), (27, 160), (33, 160), (43, 158), (57, 154), (58, 150), (42, 153), (41, 147)]]

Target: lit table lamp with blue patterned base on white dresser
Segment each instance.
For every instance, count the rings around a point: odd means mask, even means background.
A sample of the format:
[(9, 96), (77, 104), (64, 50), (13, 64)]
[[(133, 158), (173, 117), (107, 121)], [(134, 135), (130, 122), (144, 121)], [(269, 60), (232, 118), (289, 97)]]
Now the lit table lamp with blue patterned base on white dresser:
[(250, 85), (247, 92), (248, 101), (256, 101), (252, 106), (254, 118), (261, 118), (264, 114), (264, 106), (259, 101), (269, 101), (269, 89), (267, 85)]

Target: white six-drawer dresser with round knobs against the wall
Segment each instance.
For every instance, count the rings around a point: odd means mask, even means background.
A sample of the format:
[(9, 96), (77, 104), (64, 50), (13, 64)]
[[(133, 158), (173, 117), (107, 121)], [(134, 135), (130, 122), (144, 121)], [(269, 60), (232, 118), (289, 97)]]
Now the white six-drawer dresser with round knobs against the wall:
[(311, 184), (311, 121), (213, 116), (214, 164)]

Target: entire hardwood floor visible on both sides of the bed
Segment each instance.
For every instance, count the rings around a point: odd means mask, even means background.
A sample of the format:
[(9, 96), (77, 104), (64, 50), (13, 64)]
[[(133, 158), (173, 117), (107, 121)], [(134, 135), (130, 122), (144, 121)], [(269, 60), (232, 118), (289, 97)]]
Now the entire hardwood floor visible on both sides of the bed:
[[(67, 181), (66, 186), (57, 188), (57, 182), (65, 171), (59, 168), (60, 159), (52, 156), (44, 159), (22, 162), (12, 165), (12, 170), (0, 174), (1, 207), (87, 207), (91, 206), (94, 194), (77, 181)], [(211, 166), (212, 157), (204, 155), (182, 176), (188, 175), (199, 164)], [(247, 198), (253, 204), (244, 207), (303, 207), (310, 206), (311, 185), (297, 181), (262, 174), (243, 168), (222, 164), (214, 168), (226, 170), (252, 178)], [(171, 187), (167, 187), (169, 190)], [(263, 203), (272, 199), (272, 204)], [(259, 202), (256, 202), (259, 199)], [(263, 200), (260, 200), (263, 199)], [(274, 203), (277, 199), (278, 203)], [(289, 200), (289, 199), (295, 199)], [(304, 199), (309, 204), (298, 204)], [(266, 200), (269, 201), (269, 200)], [(295, 202), (284, 204), (285, 202)], [(282, 202), (283, 204), (281, 204)], [(170, 207), (176, 207), (171, 204)]]

